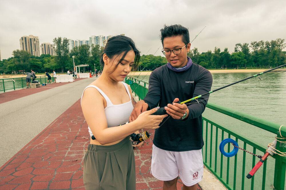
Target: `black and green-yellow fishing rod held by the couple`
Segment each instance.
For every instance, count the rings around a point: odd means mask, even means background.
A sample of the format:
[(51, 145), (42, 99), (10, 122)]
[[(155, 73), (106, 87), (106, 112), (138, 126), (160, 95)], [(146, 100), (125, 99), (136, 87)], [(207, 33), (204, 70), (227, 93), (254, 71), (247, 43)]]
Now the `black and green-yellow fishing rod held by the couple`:
[[(204, 94), (202, 94), (202, 95), (198, 95), (198, 96), (193, 97), (193, 98), (191, 98), (191, 99), (188, 99), (188, 100), (186, 100), (186, 101), (183, 101), (183, 102), (178, 101), (177, 103), (184, 104), (184, 103), (187, 103), (187, 102), (190, 102), (190, 101), (193, 101), (193, 100), (197, 100), (198, 98), (200, 98), (200, 97), (202, 97), (202, 96), (204, 96), (204, 95), (211, 94), (211, 93), (213, 93), (213, 92), (215, 92), (215, 91), (219, 91), (219, 90), (221, 90), (221, 89), (224, 89), (224, 88), (226, 88), (226, 87), (229, 87), (229, 86), (234, 85), (234, 84), (237, 84), (237, 83), (240, 83), (240, 82), (242, 82), (242, 81), (246, 81), (246, 80), (251, 79), (251, 78), (253, 78), (253, 77), (259, 77), (259, 75), (262, 75), (262, 74), (264, 74), (264, 73), (268, 73), (268, 72), (270, 72), (270, 71), (273, 71), (273, 70), (275, 70), (275, 69), (278, 69), (278, 68), (281, 68), (281, 67), (285, 67), (285, 66), (286, 66), (286, 64), (281, 65), (281, 66), (278, 66), (278, 67), (275, 67), (275, 68), (273, 68), (273, 69), (269, 69), (269, 70), (263, 71), (263, 72), (261, 72), (261, 73), (257, 73), (257, 74), (255, 74), (255, 75), (252, 75), (252, 76), (247, 77), (247, 78), (245, 78), (245, 79), (241, 79), (241, 80), (239, 80), (239, 81), (236, 81), (236, 82), (234, 82), (234, 83), (225, 85), (225, 86), (220, 87), (220, 88), (218, 88), (218, 89), (211, 90), (211, 91), (209, 91), (209, 92), (207, 92), (207, 93), (204, 93)], [(261, 78), (259, 77), (259, 79), (261, 79)], [(165, 107), (165, 106), (164, 106), (164, 107)], [(165, 114), (167, 114), (167, 112), (166, 112), (166, 110), (164, 109), (164, 107), (160, 107), (155, 113), (153, 113), (153, 115), (165, 115)]]

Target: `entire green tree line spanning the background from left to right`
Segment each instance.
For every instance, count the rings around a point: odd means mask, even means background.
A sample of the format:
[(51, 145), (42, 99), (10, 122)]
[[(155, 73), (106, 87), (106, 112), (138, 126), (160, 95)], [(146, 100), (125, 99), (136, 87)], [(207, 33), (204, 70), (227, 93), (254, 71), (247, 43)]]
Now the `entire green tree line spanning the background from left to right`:
[[(24, 50), (14, 50), (13, 57), (0, 61), (0, 73), (23, 73), (33, 69), (38, 73), (52, 70), (66, 72), (73, 70), (75, 65), (88, 64), (86, 70), (100, 70), (100, 56), (103, 48), (99, 45), (82, 45), (68, 50), (67, 38), (55, 38), (53, 40), (56, 56), (42, 54), (40, 57), (31, 56)], [(228, 48), (221, 51), (215, 47), (214, 51), (200, 53), (198, 48), (188, 52), (188, 56), (194, 63), (207, 69), (231, 69), (231, 68), (271, 68), (286, 62), (285, 40), (278, 38), (269, 41), (253, 41), (235, 45), (234, 52), (229, 53)], [(154, 70), (167, 63), (165, 57), (154, 55), (142, 55), (135, 70)], [(94, 66), (95, 64), (95, 66)], [(103, 68), (102, 68), (103, 69)]]

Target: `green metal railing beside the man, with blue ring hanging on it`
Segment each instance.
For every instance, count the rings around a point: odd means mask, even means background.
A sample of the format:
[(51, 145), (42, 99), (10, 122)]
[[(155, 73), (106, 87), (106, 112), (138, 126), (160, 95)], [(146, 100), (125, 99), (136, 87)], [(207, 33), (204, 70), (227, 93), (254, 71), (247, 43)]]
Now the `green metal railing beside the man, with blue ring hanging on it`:
[[(141, 81), (136, 77), (126, 77), (125, 82), (130, 85), (132, 92), (143, 99), (147, 94), (147, 82)], [(227, 119), (236, 119), (236, 122), (244, 122), (253, 126), (266, 130), (281, 138), (279, 127), (281, 125), (260, 119), (245, 113), (241, 113), (227, 107), (219, 106), (208, 102), (206, 105), (216, 114), (223, 114)], [(242, 136), (229, 128), (222, 126), (205, 117), (203, 120), (203, 139), (204, 147), (202, 149), (204, 166), (208, 168), (219, 181), (227, 189), (285, 189), (285, 170), (286, 158), (279, 155), (268, 157), (251, 179), (247, 179), (246, 175), (259, 161), (259, 158), (244, 151), (239, 151), (234, 157), (224, 157), (219, 151), (219, 144), (225, 138), (233, 138), (238, 142), (239, 146), (247, 149), (254, 154), (263, 155), (266, 152), (265, 146), (254, 142), (253, 140)], [(240, 120), (240, 121), (239, 121)], [(246, 131), (247, 132), (247, 131)], [(285, 128), (281, 128), (281, 135), (286, 136)], [(274, 139), (273, 139), (274, 140)], [(267, 144), (270, 142), (267, 142)], [(233, 149), (229, 143), (227, 152)], [(277, 142), (276, 149), (286, 152), (286, 143)]]

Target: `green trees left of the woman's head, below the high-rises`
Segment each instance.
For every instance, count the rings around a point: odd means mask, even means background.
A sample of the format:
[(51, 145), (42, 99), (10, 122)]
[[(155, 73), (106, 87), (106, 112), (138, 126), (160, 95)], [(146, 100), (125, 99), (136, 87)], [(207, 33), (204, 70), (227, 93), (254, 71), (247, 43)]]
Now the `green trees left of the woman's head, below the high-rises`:
[(0, 73), (18, 74), (31, 69), (37, 73), (51, 72), (53, 70), (57, 72), (72, 71), (74, 67), (72, 56), (75, 56), (75, 65), (89, 65), (85, 68), (86, 71), (94, 71), (94, 66), (100, 70), (99, 60), (103, 49), (99, 45), (82, 45), (75, 47), (69, 52), (67, 38), (55, 38), (53, 43), (55, 44), (56, 56), (42, 54), (36, 57), (24, 50), (14, 50), (12, 57), (0, 61)]

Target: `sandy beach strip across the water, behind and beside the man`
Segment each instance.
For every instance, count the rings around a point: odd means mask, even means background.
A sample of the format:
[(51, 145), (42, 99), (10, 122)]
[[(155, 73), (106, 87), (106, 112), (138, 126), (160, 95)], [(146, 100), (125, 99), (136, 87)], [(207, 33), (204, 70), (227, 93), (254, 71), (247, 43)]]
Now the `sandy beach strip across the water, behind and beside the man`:
[[(261, 73), (267, 69), (217, 69), (209, 70), (210, 73)], [(129, 75), (150, 75), (152, 71), (131, 71)]]

